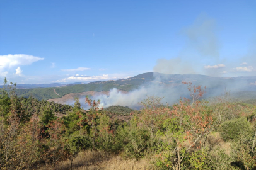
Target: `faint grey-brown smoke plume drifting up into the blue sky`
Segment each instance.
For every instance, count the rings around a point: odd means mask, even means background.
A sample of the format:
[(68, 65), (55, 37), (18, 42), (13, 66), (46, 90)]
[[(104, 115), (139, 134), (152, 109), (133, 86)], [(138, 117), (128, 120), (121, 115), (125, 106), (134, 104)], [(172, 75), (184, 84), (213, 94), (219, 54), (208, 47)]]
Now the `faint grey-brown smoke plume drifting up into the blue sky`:
[[(219, 61), (219, 42), (216, 35), (216, 21), (201, 14), (192, 25), (182, 30), (187, 38), (187, 46), (172, 59), (158, 59), (154, 72), (165, 74), (198, 74), (219, 76), (223, 71), (209, 71), (203, 68), (203, 63)], [(219, 63), (221, 64), (221, 63)]]

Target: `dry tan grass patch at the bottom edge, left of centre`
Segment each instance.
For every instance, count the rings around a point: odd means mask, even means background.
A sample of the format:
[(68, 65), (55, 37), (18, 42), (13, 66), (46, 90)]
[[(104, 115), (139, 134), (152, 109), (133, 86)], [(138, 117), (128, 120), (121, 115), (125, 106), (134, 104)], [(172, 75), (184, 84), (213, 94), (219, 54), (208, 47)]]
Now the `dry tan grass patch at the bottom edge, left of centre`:
[[(40, 170), (71, 169), (71, 160), (62, 161), (55, 165), (40, 167)], [(122, 159), (120, 156), (109, 155), (105, 152), (80, 152), (73, 160), (73, 169), (76, 170), (96, 170), (96, 169), (120, 169), (120, 170), (146, 170), (153, 169), (150, 161), (142, 159)]]

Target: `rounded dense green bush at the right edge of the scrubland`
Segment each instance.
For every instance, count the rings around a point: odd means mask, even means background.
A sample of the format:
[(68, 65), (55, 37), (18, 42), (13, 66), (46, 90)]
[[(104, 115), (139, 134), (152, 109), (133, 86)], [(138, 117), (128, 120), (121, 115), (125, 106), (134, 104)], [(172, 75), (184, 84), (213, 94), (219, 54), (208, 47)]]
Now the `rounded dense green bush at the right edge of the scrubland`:
[(250, 139), (253, 135), (250, 123), (243, 117), (224, 122), (219, 128), (219, 132), (225, 141)]

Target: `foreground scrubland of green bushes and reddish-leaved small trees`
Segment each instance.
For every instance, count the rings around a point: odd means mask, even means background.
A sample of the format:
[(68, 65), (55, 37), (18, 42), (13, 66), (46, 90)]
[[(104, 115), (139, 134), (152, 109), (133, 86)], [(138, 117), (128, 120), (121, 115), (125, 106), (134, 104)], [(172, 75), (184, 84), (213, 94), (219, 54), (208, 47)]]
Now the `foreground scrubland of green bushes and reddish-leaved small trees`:
[(228, 94), (203, 101), (206, 88), (183, 82), (190, 98), (168, 106), (151, 96), (125, 120), (89, 98), (90, 110), (76, 99), (57, 117), (4, 82), (1, 169), (256, 169), (256, 107)]

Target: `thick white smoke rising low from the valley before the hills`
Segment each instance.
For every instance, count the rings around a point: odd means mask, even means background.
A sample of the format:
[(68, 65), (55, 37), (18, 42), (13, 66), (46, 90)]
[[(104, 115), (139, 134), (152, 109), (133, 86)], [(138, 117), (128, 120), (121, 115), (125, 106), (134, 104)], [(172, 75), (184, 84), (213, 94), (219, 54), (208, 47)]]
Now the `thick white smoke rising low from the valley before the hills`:
[[(158, 96), (163, 98), (162, 103), (164, 105), (173, 104), (178, 102), (178, 99), (186, 91), (187, 86), (181, 87), (182, 90), (177, 91), (177, 88), (173, 88), (170, 84), (165, 84), (168, 75), (161, 74), (154, 75), (154, 81), (141, 85), (138, 89), (130, 91), (127, 94), (117, 91), (117, 89), (112, 89), (109, 95), (93, 96), (93, 99), (100, 99), (100, 103), (103, 108), (108, 106), (119, 105), (119, 106), (129, 106), (129, 108), (137, 109), (140, 107), (139, 103), (148, 96)], [(180, 85), (180, 84), (179, 84)]]

